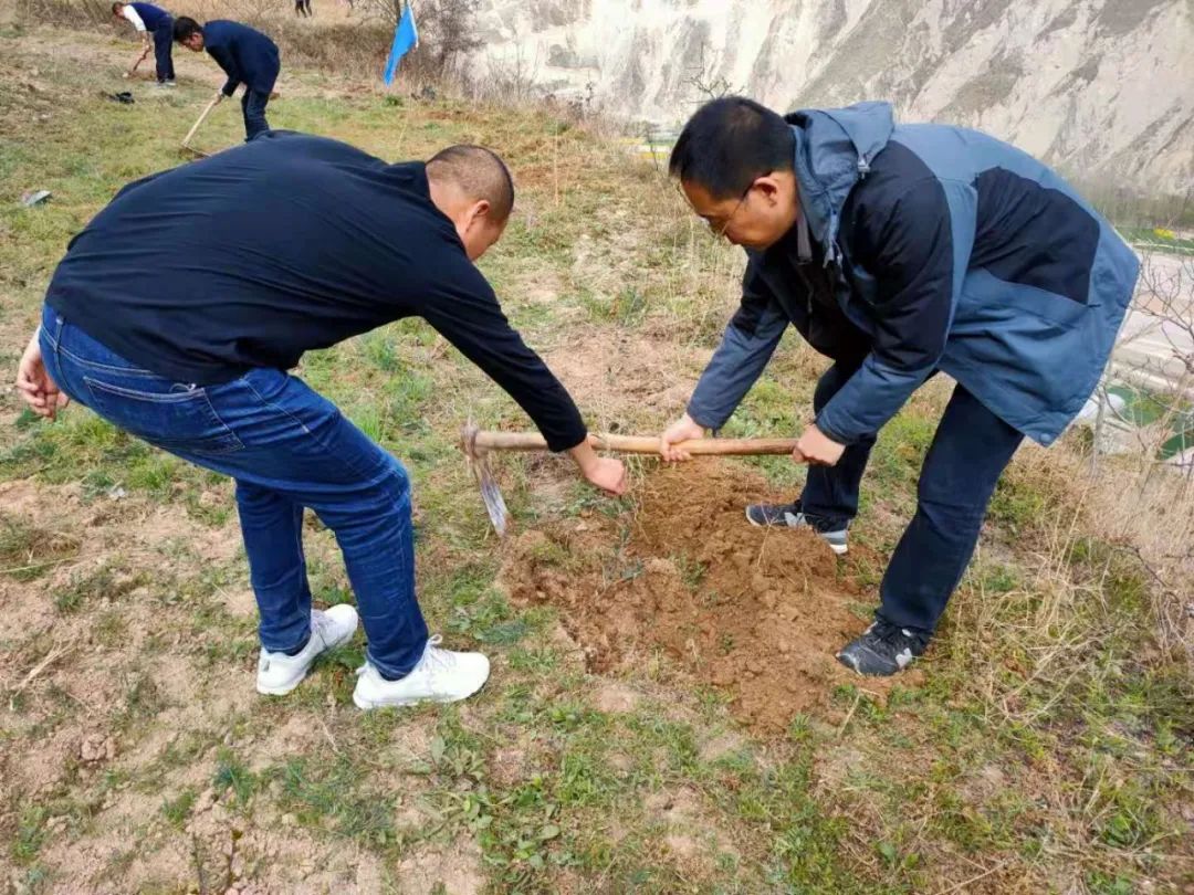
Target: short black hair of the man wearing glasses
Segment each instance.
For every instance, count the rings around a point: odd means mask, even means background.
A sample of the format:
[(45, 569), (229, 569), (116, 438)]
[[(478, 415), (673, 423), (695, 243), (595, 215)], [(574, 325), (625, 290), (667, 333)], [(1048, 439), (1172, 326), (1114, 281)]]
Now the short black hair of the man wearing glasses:
[(778, 112), (746, 97), (721, 97), (688, 119), (667, 171), (715, 199), (737, 198), (756, 178), (793, 169), (794, 140)]

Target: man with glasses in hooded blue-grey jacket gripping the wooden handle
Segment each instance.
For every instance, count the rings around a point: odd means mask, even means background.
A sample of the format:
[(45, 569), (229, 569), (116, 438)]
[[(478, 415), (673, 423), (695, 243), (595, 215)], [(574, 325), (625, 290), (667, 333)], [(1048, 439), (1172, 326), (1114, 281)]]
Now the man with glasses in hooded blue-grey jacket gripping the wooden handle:
[(863, 674), (921, 655), (1024, 436), (1048, 445), (1094, 391), (1132, 298), (1132, 249), (1073, 189), (973, 130), (897, 125), (886, 103), (787, 118), (741, 97), (702, 106), (670, 169), (715, 234), (746, 249), (741, 305), (688, 412), (660, 439), (716, 430), (793, 325), (833, 359), (794, 458), (800, 498), (759, 526), (847, 550), (875, 436), (937, 371), (955, 382), (875, 623), (838, 654)]

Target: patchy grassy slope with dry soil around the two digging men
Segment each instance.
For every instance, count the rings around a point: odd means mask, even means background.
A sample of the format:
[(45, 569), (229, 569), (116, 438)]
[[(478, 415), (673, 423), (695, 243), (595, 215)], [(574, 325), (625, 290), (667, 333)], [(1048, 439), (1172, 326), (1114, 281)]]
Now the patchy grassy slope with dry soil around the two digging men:
[[(130, 55), (0, 37), (14, 85), (0, 97), (5, 370), (70, 234), (124, 181), (178, 161), (219, 80), (184, 58), (173, 94), (100, 99)], [(652, 431), (682, 405), (737, 261), (650, 165), (541, 112), (416, 104), (318, 74), (282, 88), (275, 126), (386, 158), (501, 149), (519, 212), (484, 266), (528, 341), (596, 426)], [(226, 106), (199, 142), (239, 132)], [(16, 208), (29, 189), (54, 199)], [(787, 345), (734, 428), (793, 427), (818, 369)], [(454, 644), (494, 656), (491, 686), (461, 706), (362, 716), (357, 642), (294, 697), (253, 697), (228, 484), (78, 408), (38, 425), (5, 393), (0, 588), (19, 624), (0, 634), (0, 887), (210, 891), (232, 870), (278, 891), (1126, 893), (1190, 879), (1189, 680), (1153, 646), (1144, 573), (1083, 533), (1064, 453), (1028, 451), (1001, 486), (918, 685), (885, 702), (843, 690), (835, 723), (794, 718), (786, 739), (758, 741), (665, 661), (586, 675), (549, 611), (509, 605), (453, 436), (468, 415), (523, 420), (426, 327), (309, 356), (302, 375), (408, 462), (423, 605)], [(876, 450), (857, 537), (880, 554), (915, 500), (941, 389)], [(506, 480), (528, 521), (599, 502), (554, 461), (509, 463)], [(319, 599), (346, 599), (330, 537), (308, 542)]]

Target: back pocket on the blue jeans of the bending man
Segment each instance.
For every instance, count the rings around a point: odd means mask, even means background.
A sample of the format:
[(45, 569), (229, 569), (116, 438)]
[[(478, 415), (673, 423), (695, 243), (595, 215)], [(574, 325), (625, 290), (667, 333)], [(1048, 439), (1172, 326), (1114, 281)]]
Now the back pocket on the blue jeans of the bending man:
[(96, 413), (164, 450), (211, 455), (244, 448), (202, 388), (172, 385), (167, 391), (143, 391), (90, 376), (84, 382)]

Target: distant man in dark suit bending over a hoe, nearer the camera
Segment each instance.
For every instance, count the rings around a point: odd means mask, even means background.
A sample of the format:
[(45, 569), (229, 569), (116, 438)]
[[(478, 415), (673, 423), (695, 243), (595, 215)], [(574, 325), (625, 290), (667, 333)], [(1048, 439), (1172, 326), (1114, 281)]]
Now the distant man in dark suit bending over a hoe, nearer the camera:
[(174, 39), (195, 53), (207, 50), (228, 75), (224, 86), (216, 94), (217, 100), (230, 97), (236, 87), (245, 85), (245, 93), (240, 98), (240, 107), (245, 115), (245, 140), (252, 140), (270, 129), (265, 121), (265, 106), (282, 67), (278, 47), (273, 41), (239, 21), (214, 19), (199, 25), (186, 16), (174, 23)]

